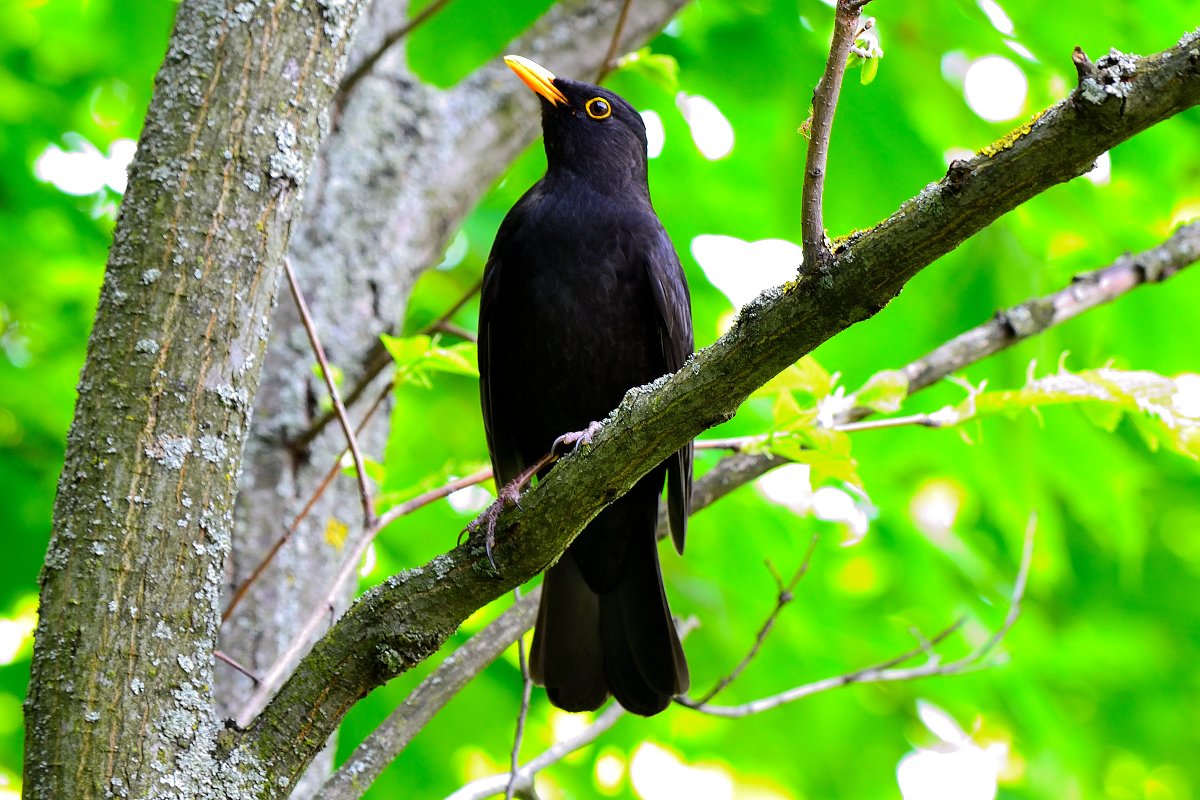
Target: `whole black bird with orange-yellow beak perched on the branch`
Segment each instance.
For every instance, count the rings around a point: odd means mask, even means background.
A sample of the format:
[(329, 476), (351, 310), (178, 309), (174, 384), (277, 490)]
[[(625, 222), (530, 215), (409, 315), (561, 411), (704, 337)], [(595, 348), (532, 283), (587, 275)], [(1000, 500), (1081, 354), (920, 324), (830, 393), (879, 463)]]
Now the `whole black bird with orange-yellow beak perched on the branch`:
[[(500, 223), (484, 271), (480, 393), (498, 486), (692, 351), (688, 284), (650, 205), (641, 115), (607, 89), (504, 60), (541, 97), (547, 167)], [(611, 693), (649, 716), (686, 691), (655, 523), (666, 480), (682, 553), (691, 455), (689, 444), (650, 470), (546, 571), (530, 667), (554, 705), (594, 710)]]

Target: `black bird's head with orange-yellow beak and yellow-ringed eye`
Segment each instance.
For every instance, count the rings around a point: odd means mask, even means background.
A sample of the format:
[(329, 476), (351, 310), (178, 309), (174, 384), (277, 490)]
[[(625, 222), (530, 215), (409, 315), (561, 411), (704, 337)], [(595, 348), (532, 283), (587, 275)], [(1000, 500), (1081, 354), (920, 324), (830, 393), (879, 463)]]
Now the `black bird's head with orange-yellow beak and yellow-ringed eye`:
[(601, 86), (557, 78), (520, 55), (504, 62), (541, 97), (551, 173), (568, 170), (600, 187), (646, 187), (646, 124), (632, 106)]

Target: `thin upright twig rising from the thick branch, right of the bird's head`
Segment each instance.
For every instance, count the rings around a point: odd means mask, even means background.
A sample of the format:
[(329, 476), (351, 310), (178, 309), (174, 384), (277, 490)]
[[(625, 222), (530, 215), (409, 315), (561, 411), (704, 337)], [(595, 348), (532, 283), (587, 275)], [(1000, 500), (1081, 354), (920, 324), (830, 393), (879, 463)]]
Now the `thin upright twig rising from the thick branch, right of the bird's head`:
[(800, 211), (803, 270), (806, 272), (820, 270), (829, 254), (824, 236), (824, 216), (821, 210), (826, 166), (829, 161), (829, 134), (833, 130), (834, 112), (838, 109), (838, 96), (841, 94), (841, 80), (846, 73), (846, 58), (858, 34), (859, 11), (866, 2), (869, 0), (838, 0), (829, 60), (826, 61), (824, 74), (812, 91), (812, 125), (804, 161)]

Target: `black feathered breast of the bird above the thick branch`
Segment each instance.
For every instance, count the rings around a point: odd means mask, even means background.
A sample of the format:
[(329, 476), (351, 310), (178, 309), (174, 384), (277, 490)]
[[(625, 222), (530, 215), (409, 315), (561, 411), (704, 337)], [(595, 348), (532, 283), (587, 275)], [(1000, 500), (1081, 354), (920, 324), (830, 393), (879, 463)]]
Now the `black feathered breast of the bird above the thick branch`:
[(602, 209), (554, 211), (532, 215), (496, 254), (491, 347), (510, 368), (493, 391), (529, 414), (534, 449), (666, 372), (637, 228)]

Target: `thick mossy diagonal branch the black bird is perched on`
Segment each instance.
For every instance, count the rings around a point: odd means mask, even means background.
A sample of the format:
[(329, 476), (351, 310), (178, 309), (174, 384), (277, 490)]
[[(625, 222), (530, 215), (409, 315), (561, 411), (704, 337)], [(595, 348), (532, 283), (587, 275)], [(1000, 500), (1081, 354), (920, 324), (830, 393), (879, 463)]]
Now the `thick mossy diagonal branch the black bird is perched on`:
[(1200, 102), (1190, 46), (1148, 59), (1102, 60), (1085, 82), (1014, 140), (952, 167), (827, 269), (764, 293), (734, 327), (682, 371), (631, 390), (594, 444), (551, 471), (500, 519), (488, 569), (474, 542), (368, 593), (317, 644), (241, 746), (296, 770), (346, 710), (433, 652), (474, 609), (542, 571), (605, 504), (821, 342), (880, 311), (920, 269), (997, 217), (1081, 175), (1104, 151)]

